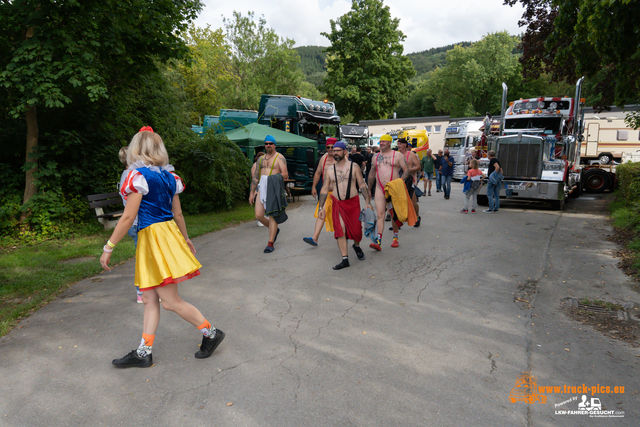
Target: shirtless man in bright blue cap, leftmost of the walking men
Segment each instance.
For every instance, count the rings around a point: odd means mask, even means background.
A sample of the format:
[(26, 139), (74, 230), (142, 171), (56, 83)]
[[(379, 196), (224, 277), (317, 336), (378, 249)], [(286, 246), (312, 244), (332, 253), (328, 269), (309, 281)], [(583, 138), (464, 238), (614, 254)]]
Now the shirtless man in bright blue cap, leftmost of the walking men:
[[(282, 178), (288, 179), (289, 172), (287, 171), (287, 162), (282, 154), (276, 152), (276, 139), (267, 135), (264, 139), (264, 148), (267, 154), (258, 159), (257, 167), (251, 177), (251, 190), (249, 191), (249, 204), (255, 203), (256, 219), (262, 223), (265, 227), (269, 227), (269, 243), (264, 249), (265, 253), (274, 251), (273, 244), (278, 238), (280, 228), (273, 217), (265, 218), (264, 211), (267, 201), (266, 189), (267, 177), (269, 175), (281, 174)], [(261, 189), (261, 185), (263, 188)], [(257, 200), (256, 200), (257, 198)]]

